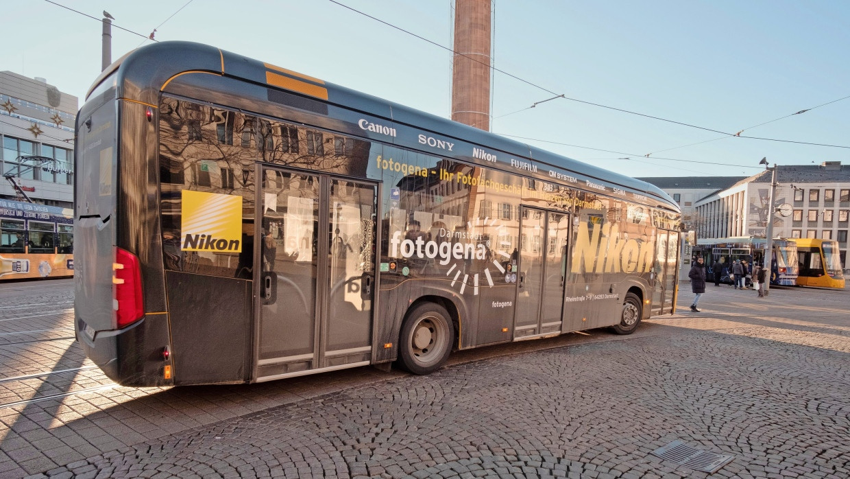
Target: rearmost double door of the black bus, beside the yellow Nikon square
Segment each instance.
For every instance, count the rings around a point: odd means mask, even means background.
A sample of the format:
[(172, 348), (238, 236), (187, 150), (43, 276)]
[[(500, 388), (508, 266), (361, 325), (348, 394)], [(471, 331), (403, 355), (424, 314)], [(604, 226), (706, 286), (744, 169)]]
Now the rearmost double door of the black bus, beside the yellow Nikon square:
[(371, 360), (377, 186), (261, 167), (259, 381)]

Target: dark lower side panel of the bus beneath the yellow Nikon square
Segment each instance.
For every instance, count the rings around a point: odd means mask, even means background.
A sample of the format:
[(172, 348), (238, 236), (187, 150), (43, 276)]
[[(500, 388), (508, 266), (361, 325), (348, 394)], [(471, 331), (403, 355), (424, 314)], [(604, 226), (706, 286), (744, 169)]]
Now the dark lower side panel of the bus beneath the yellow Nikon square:
[(176, 385), (251, 379), (252, 282), (167, 271)]

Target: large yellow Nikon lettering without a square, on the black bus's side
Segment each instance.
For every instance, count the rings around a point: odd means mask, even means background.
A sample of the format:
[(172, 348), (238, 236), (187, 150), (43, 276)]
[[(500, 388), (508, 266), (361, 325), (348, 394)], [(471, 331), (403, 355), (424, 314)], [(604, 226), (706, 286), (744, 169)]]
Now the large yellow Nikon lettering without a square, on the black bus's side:
[(654, 242), (621, 237), (616, 224), (579, 225), (572, 267), (574, 273), (648, 273), (652, 271)]

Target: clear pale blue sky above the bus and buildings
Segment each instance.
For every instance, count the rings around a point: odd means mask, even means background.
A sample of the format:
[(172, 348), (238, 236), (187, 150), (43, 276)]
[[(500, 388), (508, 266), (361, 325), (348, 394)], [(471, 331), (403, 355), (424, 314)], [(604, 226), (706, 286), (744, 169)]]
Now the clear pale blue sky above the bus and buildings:
[[(145, 37), (158, 26), (157, 40), (208, 43), (450, 116), (445, 48), (328, 0), (193, 0), (174, 14), (187, 1), (55, 0), (98, 19), (106, 9)], [(339, 1), (451, 47), (450, 0)], [(44, 0), (4, 11), (0, 69), (45, 77), (82, 105), (100, 70), (99, 21)], [(734, 133), (850, 95), (850, 2), (496, 0), (495, 11), (494, 66), (576, 100)], [(113, 60), (144, 42), (112, 33)], [(762, 157), (850, 163), (850, 148), (743, 138), (677, 148), (724, 135), (571, 100), (508, 114), (553, 94), (499, 72), (493, 80), (494, 133), (630, 176), (749, 175)], [(850, 98), (744, 135), (850, 146), (848, 127)]]

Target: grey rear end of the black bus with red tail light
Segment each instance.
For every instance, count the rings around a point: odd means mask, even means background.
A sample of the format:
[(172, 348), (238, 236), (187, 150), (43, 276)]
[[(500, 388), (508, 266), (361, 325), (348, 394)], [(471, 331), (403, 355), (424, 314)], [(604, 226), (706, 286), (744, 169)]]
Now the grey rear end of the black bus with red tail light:
[[(127, 242), (122, 224), (129, 223), (122, 219), (139, 216), (140, 205), (127, 202), (120, 187), (122, 101), (116, 77), (99, 83), (77, 115), (74, 326), (83, 351), (110, 379), (122, 385), (169, 384), (160, 374), (159, 380), (145, 377), (150, 367), (144, 363), (153, 354), (148, 343), (156, 339), (160, 353), (167, 345), (167, 325), (157, 326), (156, 333), (150, 330), (154, 325), (144, 324), (142, 268), (122, 244)], [(157, 359), (154, 368), (163, 368)]]

